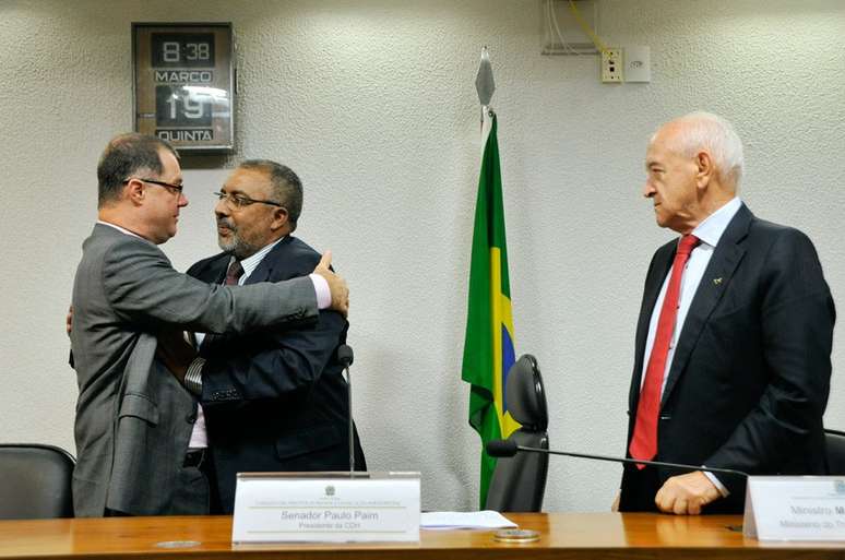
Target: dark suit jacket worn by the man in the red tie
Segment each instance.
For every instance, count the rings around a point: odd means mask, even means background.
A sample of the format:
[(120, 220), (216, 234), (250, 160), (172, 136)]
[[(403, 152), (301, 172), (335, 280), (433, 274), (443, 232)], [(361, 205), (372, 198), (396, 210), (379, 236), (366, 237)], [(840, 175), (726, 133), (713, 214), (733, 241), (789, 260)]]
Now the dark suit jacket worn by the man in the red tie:
[[(676, 247), (674, 240), (657, 250), (645, 279), (629, 444), (648, 322)], [(707, 264), (678, 338), (660, 403), (655, 460), (754, 475), (824, 474), (822, 415), (835, 315), (807, 236), (758, 219), (742, 205)], [(657, 469), (656, 486), (638, 492), (643, 477), (626, 468), (620, 509), (653, 510), (659, 486), (678, 474)], [(730, 496), (705, 511), (741, 512), (745, 479), (718, 478)], [(638, 493), (646, 496), (640, 503)]]

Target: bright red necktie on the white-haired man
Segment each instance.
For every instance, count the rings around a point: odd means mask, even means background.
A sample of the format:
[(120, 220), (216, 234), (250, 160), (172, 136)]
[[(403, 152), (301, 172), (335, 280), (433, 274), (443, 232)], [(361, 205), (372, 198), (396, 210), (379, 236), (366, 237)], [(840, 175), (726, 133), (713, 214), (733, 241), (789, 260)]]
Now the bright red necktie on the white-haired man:
[[(669, 354), (675, 321), (678, 317), (678, 296), (683, 266), (690, 258), (692, 249), (699, 243), (695, 236), (681, 237), (675, 262), (671, 265), (671, 278), (660, 308), (657, 321), (657, 333), (654, 336), (652, 355), (648, 357), (648, 368), (645, 370), (645, 381), (636, 406), (636, 424), (628, 451), (633, 458), (651, 461), (657, 455), (657, 414), (660, 410), (660, 390), (663, 376), (666, 372), (666, 358)], [(643, 468), (645, 465), (636, 465)]]

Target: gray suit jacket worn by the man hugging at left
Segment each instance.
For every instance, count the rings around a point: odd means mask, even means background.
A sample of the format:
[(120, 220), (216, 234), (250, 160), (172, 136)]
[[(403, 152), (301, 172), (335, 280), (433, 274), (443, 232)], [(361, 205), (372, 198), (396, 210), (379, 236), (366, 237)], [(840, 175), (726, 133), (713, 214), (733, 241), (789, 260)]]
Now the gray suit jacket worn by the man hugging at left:
[(307, 277), (209, 285), (176, 272), (155, 245), (94, 226), (73, 284), (75, 514), (195, 513), (172, 501), (195, 401), (155, 358), (163, 327), (241, 333), (317, 317)]

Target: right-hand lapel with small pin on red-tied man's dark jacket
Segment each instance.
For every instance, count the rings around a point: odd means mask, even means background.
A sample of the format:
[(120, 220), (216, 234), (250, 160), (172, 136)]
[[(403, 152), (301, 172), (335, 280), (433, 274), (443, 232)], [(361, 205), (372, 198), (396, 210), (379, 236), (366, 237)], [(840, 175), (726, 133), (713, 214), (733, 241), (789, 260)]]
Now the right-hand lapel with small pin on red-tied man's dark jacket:
[(695, 348), (699, 336), (701, 336), (701, 332), (710, 320), (716, 303), (719, 302), (722, 296), (730, 287), (730, 279), (742, 257), (746, 254), (746, 250), (737, 243), (748, 234), (748, 228), (753, 217), (753, 214), (745, 204), (740, 206), (722, 235), (718, 246), (710, 263), (707, 263), (678, 337), (678, 345), (671, 360), (671, 368), (666, 380), (660, 407), (666, 404), (671, 390), (678, 382), (678, 378), (687, 367), (690, 355)]

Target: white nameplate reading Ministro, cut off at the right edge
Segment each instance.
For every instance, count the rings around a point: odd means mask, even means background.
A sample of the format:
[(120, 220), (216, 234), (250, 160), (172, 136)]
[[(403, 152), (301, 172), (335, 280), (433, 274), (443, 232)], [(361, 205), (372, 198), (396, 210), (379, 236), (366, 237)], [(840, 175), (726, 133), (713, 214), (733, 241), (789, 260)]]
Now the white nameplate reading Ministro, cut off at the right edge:
[(845, 540), (845, 477), (751, 476), (742, 526), (760, 540)]

